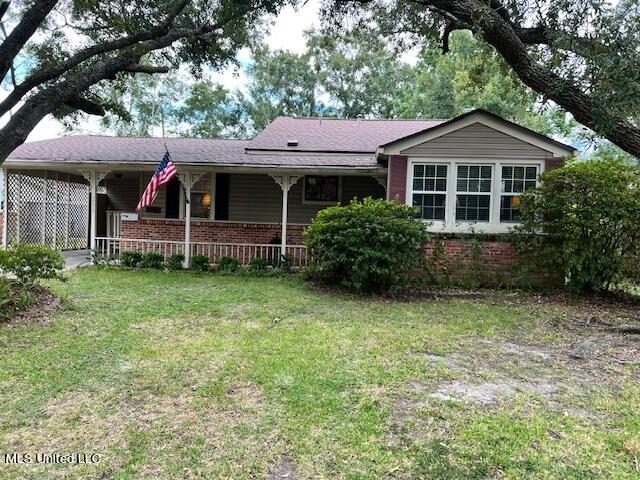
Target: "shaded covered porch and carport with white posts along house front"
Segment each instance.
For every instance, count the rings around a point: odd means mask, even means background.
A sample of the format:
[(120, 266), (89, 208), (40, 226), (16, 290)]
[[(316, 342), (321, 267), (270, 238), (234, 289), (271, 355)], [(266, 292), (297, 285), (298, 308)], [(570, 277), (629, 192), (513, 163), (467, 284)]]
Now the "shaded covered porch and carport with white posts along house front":
[(353, 198), (384, 197), (386, 187), (382, 170), (178, 164), (179, 182), (162, 187), (138, 215), (134, 209), (152, 175), (150, 165), (34, 167), (4, 166), (4, 246), (88, 248), (101, 258), (126, 250), (157, 252), (165, 259), (182, 254), (185, 264), (196, 254), (212, 263), (231, 256), (242, 264), (253, 258), (275, 264), (286, 255), (292, 265), (303, 266), (303, 231), (319, 210)]

